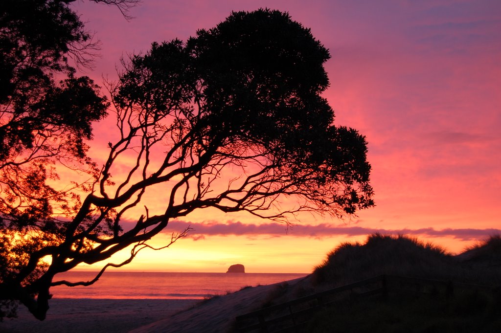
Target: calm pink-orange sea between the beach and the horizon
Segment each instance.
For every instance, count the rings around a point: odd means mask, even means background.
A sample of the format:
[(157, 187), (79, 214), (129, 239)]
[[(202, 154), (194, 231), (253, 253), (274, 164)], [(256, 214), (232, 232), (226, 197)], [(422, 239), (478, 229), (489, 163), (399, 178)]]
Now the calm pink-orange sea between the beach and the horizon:
[[(92, 272), (66, 272), (55, 280), (87, 281)], [(272, 284), (305, 276), (301, 273), (154, 273), (105, 272), (93, 285), (56, 286), (54, 298), (192, 299), (225, 294), (245, 286)]]

